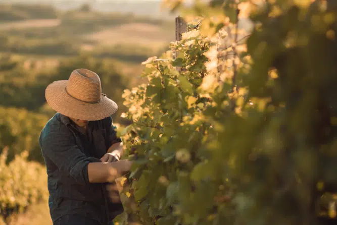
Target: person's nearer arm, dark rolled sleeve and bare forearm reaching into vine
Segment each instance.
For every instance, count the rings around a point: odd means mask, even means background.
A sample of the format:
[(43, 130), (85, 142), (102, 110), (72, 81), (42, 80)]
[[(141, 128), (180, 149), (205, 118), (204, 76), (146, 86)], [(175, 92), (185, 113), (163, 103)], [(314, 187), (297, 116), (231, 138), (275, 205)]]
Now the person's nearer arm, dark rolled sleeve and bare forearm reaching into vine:
[(76, 145), (72, 134), (66, 130), (42, 133), (40, 147), (43, 155), (50, 158), (60, 171), (83, 184), (109, 182), (127, 172), (131, 166), (127, 160), (102, 163), (97, 158), (86, 157)]

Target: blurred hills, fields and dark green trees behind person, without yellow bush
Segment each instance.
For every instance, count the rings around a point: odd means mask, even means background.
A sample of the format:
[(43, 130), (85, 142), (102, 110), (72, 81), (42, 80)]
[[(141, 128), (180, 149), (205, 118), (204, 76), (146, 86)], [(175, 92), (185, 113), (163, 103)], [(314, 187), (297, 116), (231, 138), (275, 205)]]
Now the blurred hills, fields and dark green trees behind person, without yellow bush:
[(87, 3), (66, 11), (16, 3), (0, 8), (0, 149), (9, 146), (10, 159), (28, 150), (29, 159), (43, 163), (36, 137), (55, 113), (45, 104), (45, 87), (76, 68), (100, 75), (103, 92), (120, 108), (114, 122), (127, 124), (120, 119), (123, 90), (142, 83), (140, 63), (174, 40), (174, 21), (100, 12)]

